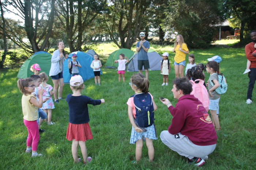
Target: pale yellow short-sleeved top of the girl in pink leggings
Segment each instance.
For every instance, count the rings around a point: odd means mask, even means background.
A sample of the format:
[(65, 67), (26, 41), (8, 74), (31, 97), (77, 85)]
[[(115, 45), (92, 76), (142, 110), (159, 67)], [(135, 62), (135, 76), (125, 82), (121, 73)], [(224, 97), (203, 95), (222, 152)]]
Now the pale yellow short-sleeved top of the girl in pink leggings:
[(34, 94), (29, 94), (27, 96), (23, 94), (21, 98), (23, 119), (27, 121), (34, 121), (38, 119), (38, 108), (29, 102), (31, 97), (34, 97)]

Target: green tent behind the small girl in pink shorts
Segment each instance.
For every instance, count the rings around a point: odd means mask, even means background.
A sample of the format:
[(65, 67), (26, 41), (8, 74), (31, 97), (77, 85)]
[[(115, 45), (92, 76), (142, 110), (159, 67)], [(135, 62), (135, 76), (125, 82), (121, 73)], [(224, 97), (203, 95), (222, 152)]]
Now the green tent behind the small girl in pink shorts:
[(117, 68), (118, 67), (118, 63), (114, 63), (115, 60), (119, 59), (119, 55), (120, 54), (124, 54), (125, 57), (127, 57), (128, 59), (132, 58), (134, 51), (129, 50), (129, 49), (119, 49), (114, 51), (113, 53), (111, 53), (109, 55), (109, 58), (106, 62), (106, 68)]

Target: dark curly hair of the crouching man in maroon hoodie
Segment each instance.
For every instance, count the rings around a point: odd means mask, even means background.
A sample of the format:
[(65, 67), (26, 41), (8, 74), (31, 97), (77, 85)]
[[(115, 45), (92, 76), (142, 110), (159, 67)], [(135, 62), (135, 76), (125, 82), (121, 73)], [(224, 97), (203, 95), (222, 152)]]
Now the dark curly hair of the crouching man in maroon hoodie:
[(182, 77), (182, 78), (176, 77), (173, 80), (173, 84), (175, 84), (177, 91), (182, 90), (182, 93), (184, 95), (190, 94), (192, 92), (192, 84), (187, 77)]

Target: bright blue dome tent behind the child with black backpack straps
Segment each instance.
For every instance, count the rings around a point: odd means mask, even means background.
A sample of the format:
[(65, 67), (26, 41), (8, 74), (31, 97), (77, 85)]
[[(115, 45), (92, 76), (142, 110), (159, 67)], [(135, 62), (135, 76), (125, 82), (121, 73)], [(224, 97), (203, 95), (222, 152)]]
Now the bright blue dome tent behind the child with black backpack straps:
[[(63, 73), (64, 83), (69, 83), (69, 80), (72, 76), (72, 74), (69, 74), (69, 69), (68, 69), (68, 59), (70, 59), (70, 61), (72, 61), (72, 58), (71, 58), (72, 54), (77, 55), (76, 61), (78, 61), (80, 63), (80, 65), (82, 66), (82, 68), (78, 67), (78, 70), (79, 70), (79, 75), (83, 78), (83, 81), (93, 78), (94, 73), (93, 73), (93, 69), (90, 66), (91, 66), (91, 62), (94, 59), (90, 55), (88, 55), (82, 51), (75, 51), (73, 53), (70, 53), (68, 55), (68, 58), (64, 61), (64, 73)], [(101, 72), (101, 74), (102, 74), (102, 72)]]

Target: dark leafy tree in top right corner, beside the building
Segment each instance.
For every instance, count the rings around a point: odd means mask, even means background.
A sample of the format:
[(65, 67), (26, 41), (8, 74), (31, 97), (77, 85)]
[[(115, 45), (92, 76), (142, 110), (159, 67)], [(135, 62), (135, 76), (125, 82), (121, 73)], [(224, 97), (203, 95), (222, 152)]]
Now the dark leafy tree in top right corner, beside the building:
[(249, 35), (255, 29), (256, 1), (252, 0), (223, 0), (226, 14), (233, 27), (240, 28), (240, 41), (244, 39), (244, 32)]

